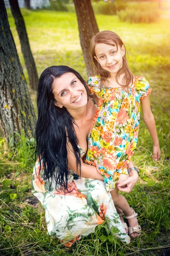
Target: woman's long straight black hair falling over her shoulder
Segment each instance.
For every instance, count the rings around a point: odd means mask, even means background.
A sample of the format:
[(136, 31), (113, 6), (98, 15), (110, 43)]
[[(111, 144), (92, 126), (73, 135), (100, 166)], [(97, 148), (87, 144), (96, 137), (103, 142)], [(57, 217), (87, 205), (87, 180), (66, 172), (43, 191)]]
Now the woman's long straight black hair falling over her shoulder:
[(55, 188), (60, 187), (64, 191), (68, 190), (67, 134), (76, 156), (77, 169), (79, 166), (81, 174), (74, 119), (64, 106), (59, 108), (54, 105), (55, 99), (52, 93), (54, 79), (65, 73), (74, 73), (88, 93), (84, 79), (74, 69), (67, 66), (46, 68), (40, 76), (37, 89), (38, 120), (35, 131), (35, 160), (39, 160), (40, 170), (44, 169), (44, 180), (48, 181), (50, 187), (54, 180)]

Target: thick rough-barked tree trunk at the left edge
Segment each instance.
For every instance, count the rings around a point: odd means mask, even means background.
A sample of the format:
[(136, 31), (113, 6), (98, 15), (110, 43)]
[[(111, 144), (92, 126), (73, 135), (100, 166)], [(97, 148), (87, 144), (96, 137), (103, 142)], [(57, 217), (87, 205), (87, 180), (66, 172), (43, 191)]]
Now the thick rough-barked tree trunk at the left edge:
[(0, 126), (9, 143), (14, 132), (34, 136), (36, 117), (3, 0), (0, 14)]

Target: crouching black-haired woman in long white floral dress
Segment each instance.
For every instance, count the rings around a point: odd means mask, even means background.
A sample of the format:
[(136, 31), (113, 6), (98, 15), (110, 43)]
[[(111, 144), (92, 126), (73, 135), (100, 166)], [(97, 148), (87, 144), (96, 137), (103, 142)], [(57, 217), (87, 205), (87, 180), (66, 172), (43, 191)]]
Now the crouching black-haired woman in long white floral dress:
[[(68, 247), (94, 233), (104, 220), (108, 232), (116, 228), (115, 236), (130, 242), (101, 174), (94, 166), (87, 170), (82, 161), (96, 112), (95, 100), (95, 96), (88, 96), (79, 73), (70, 67), (48, 67), (40, 76), (35, 152), (38, 160), (32, 192), (45, 208), (49, 235), (57, 236)], [(130, 191), (137, 180), (137, 172), (131, 172), (126, 189)]]

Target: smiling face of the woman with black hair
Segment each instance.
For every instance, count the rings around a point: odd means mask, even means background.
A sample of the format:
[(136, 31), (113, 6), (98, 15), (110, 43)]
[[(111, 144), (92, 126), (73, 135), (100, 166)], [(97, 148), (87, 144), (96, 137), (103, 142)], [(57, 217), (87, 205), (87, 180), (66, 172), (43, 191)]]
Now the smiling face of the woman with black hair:
[(74, 73), (65, 73), (54, 79), (53, 94), (56, 100), (54, 104), (59, 108), (82, 108), (88, 102), (85, 87)]

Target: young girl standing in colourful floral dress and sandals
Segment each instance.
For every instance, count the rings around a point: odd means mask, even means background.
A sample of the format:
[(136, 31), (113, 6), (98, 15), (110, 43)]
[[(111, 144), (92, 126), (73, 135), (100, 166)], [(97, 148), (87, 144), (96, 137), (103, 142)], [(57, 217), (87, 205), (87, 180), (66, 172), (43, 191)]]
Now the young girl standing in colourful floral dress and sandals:
[(136, 150), (140, 102), (144, 122), (153, 140), (152, 158), (157, 161), (160, 157), (155, 120), (150, 110), (151, 89), (144, 77), (134, 77), (130, 72), (125, 45), (116, 33), (102, 31), (94, 36), (91, 55), (98, 75), (89, 77), (88, 87), (99, 102), (89, 134), (86, 163), (96, 166), (104, 177), (106, 190), (111, 192), (114, 204), (119, 207), (118, 212), (122, 209), (125, 213), (129, 234), (134, 236), (141, 230), (135, 218), (137, 214), (119, 195), (115, 184), (120, 179), (125, 180), (130, 172), (127, 164)]

